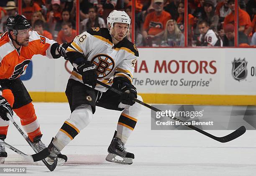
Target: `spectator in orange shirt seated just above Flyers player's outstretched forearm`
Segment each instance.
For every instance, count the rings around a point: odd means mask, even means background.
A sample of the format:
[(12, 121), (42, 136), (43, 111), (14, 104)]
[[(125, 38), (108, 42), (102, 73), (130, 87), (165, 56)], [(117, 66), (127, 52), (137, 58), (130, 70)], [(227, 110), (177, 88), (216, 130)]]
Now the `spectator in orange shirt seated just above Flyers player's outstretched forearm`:
[(69, 43), (77, 36), (76, 30), (72, 29), (72, 24), (70, 22), (63, 22), (61, 25), (61, 31), (58, 33), (56, 41), (61, 43)]

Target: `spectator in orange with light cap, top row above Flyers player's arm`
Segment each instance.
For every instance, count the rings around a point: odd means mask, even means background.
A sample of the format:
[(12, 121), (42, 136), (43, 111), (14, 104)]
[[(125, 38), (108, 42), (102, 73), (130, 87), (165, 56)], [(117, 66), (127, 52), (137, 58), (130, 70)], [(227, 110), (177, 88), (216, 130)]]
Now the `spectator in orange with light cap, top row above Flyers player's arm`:
[(60, 0), (51, 0), (51, 6), (47, 13), (47, 23), (51, 33), (54, 33), (56, 23), (59, 21), (61, 21)]

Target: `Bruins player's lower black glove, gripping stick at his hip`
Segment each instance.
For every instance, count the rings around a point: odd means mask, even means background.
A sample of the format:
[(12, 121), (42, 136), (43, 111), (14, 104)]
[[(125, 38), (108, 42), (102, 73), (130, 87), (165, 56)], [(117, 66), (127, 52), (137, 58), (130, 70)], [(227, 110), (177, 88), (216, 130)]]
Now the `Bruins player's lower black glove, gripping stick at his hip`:
[(123, 77), (115, 77), (113, 79), (114, 86), (123, 91), (121, 95), (121, 102), (125, 105), (133, 105), (135, 103), (134, 99), (137, 98), (136, 87), (131, 84), (131, 82)]

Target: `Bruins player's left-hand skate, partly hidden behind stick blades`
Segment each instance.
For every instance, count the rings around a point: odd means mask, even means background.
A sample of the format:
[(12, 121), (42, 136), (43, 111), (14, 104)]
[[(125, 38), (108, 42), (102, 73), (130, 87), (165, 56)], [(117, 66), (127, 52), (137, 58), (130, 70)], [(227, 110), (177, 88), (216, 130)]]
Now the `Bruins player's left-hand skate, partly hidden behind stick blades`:
[(45, 159), (49, 164), (52, 164), (52, 163), (54, 163), (54, 159), (56, 158), (56, 156), (58, 156), (57, 165), (62, 166), (65, 162), (67, 162), (67, 156), (61, 154), (61, 152), (52, 143), (53, 140), (54, 140), (54, 138), (52, 138), (51, 143), (48, 146), (50, 155)]

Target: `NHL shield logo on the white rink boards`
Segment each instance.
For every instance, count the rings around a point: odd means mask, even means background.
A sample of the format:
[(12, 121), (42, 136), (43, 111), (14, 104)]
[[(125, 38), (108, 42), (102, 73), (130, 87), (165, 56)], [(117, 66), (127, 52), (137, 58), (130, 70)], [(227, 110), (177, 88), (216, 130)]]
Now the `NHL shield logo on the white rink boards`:
[(245, 60), (245, 58), (239, 58), (238, 60), (236, 60), (235, 58), (232, 62), (232, 77), (235, 80), (241, 82), (243, 79), (246, 79), (247, 72), (247, 61)]

